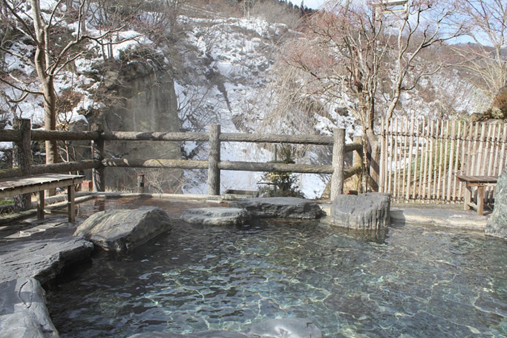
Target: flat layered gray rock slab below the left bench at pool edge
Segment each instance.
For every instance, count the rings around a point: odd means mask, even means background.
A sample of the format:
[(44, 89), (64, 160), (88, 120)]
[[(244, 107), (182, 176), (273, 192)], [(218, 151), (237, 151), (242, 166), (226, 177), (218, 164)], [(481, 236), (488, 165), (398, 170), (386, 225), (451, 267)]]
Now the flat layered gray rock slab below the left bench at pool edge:
[(91, 242), (74, 236), (0, 245), (0, 282), (21, 277), (48, 282), (63, 266), (89, 257), (92, 251)]

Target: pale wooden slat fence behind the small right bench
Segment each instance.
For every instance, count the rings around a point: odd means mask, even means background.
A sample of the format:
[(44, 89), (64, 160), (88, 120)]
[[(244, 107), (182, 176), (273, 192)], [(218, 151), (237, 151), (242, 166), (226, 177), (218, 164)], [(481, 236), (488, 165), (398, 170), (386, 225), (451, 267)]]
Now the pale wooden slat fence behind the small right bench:
[[(394, 201), (461, 202), (455, 174), (500, 175), (506, 145), (507, 123), (395, 118), (381, 132), (379, 190)], [(493, 197), (486, 188), (485, 202)]]

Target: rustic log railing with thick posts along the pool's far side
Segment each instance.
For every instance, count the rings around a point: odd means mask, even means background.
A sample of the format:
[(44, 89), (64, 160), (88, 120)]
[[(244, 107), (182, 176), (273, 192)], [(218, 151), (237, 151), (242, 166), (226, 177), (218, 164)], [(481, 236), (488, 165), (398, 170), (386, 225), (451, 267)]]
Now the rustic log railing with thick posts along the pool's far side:
[[(16, 124), (29, 125), (29, 124)], [(0, 171), (0, 178), (11, 178), (30, 174), (63, 173), (73, 171), (92, 170), (93, 186), (96, 191), (105, 190), (105, 168), (107, 167), (135, 167), (135, 168), (178, 168), (178, 169), (206, 169), (208, 170), (208, 194), (220, 194), (220, 171), (251, 171), (251, 172), (285, 172), (285, 173), (312, 173), (331, 174), (331, 199), (343, 193), (343, 180), (358, 174), (360, 164), (344, 167), (344, 155), (356, 151), (362, 154), (363, 146), (360, 143), (345, 144), (345, 130), (335, 128), (333, 137), (308, 135), (279, 135), (279, 134), (244, 134), (221, 133), (220, 125), (210, 125), (208, 133), (187, 132), (133, 132), (114, 131), (102, 132), (95, 127), (94, 131), (50, 131), (50, 130), (0, 130), (0, 142), (14, 142), (15, 149), (22, 148), (27, 141), (91, 141), (92, 159), (63, 162), (56, 164), (30, 165), (27, 168), (17, 167)], [(207, 160), (180, 160), (180, 159), (124, 159), (106, 158), (104, 151), (105, 141), (201, 141), (209, 142)], [(252, 143), (284, 143), (323, 145), (333, 147), (333, 159), (330, 165), (293, 164), (275, 162), (241, 162), (222, 161), (220, 158), (221, 142), (252, 142)], [(23, 151), (14, 151), (15, 156), (30, 157)], [(23, 163), (15, 160), (14, 163)], [(25, 165), (26, 166), (26, 165)]]

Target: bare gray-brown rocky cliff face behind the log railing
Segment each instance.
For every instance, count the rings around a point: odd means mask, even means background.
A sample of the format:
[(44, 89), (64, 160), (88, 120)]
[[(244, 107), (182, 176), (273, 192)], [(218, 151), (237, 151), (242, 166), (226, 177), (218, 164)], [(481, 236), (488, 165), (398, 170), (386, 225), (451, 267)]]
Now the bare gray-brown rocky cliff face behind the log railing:
[[(132, 61), (112, 78), (115, 104), (103, 111), (105, 131), (179, 131), (177, 99), (172, 77), (146, 61)], [(123, 159), (179, 159), (174, 142), (114, 141), (106, 146), (107, 157)], [(152, 168), (107, 168), (106, 182), (112, 189), (135, 187), (136, 175), (146, 174), (154, 192), (179, 192), (183, 172)]]

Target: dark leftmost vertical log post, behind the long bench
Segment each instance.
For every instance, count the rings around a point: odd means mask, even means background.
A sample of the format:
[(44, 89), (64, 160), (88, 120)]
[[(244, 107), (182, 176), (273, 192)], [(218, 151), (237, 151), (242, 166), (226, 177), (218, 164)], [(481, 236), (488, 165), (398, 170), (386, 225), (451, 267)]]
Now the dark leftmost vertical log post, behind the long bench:
[[(14, 119), (13, 127), (20, 131), (21, 140), (14, 143), (12, 165), (19, 167), (23, 176), (30, 175), (32, 166), (31, 121), (30, 119)], [(31, 194), (14, 196), (14, 209), (16, 211), (31, 209)]]

